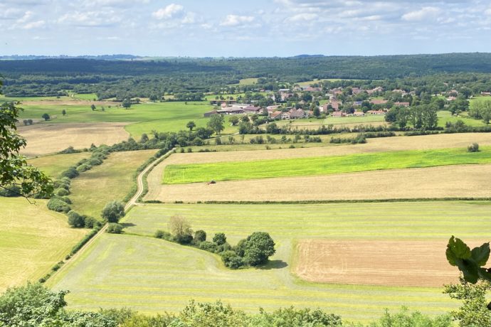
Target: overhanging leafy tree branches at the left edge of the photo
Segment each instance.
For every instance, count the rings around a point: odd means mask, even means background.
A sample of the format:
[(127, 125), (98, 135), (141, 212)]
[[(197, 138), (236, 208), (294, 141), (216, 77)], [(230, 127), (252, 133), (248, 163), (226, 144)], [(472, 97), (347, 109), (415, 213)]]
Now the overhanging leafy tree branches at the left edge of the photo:
[(53, 193), (51, 179), (19, 155), (26, 146), (26, 140), (16, 134), (20, 111), (14, 102), (0, 104), (0, 188), (17, 186), (19, 195), (46, 198)]

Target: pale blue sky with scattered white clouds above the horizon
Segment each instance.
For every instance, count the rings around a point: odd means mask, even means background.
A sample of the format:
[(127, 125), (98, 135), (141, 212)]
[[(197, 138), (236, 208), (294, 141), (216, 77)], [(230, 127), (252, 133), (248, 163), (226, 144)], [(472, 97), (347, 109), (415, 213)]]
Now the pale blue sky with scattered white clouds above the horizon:
[(0, 55), (491, 52), (491, 1), (0, 0)]

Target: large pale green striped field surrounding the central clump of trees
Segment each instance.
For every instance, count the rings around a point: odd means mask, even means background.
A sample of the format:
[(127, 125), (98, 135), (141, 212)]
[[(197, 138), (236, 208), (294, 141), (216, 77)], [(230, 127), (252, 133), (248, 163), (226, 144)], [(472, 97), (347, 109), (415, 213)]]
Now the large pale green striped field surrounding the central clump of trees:
[[(348, 320), (370, 320), (401, 306), (436, 315), (457, 305), (439, 288), (315, 284), (290, 270), (296, 240), (486, 240), (491, 203), (352, 203), (318, 205), (144, 205), (122, 221), (127, 233), (102, 235), (49, 284), (70, 289), (73, 309), (126, 306), (179, 311), (189, 299), (222, 299), (257, 312), (280, 306), (320, 307)], [(225, 232), (233, 245), (251, 232), (270, 232), (277, 253), (264, 269), (226, 270), (208, 252), (143, 235), (167, 230), (183, 215), (208, 239)], [(437, 250), (438, 251), (438, 250)], [(445, 255), (445, 249), (441, 249)], [(458, 275), (455, 270), (455, 275)]]

